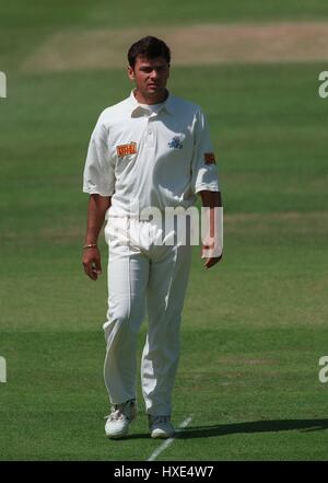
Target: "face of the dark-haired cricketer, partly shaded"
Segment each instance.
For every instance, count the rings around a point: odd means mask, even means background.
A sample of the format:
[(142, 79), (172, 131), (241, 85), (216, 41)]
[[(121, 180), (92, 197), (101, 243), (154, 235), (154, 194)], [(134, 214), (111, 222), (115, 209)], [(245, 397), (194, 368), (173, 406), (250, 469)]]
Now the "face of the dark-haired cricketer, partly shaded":
[(169, 65), (163, 57), (137, 57), (134, 69), (128, 67), (129, 78), (136, 81), (137, 92), (144, 100), (157, 101), (165, 95)]

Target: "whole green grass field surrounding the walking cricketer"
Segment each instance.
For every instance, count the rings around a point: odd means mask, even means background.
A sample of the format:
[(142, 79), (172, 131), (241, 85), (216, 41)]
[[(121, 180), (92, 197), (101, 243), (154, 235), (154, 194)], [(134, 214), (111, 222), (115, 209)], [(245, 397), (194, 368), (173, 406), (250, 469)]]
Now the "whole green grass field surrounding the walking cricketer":
[[(140, 415), (104, 436), (105, 275), (81, 269), (91, 129), (124, 99), (122, 70), (27, 73), (24, 57), (60, 28), (328, 20), (326, 1), (0, 4), (1, 460), (145, 460), (159, 447)], [(183, 2), (184, 3), (184, 2)], [(279, 3), (279, 5), (278, 5)], [(220, 4), (220, 8), (216, 7)], [(247, 4), (247, 5), (246, 5)], [(63, 8), (65, 5), (65, 8)], [(95, 7), (96, 5), (96, 7)], [(236, 8), (238, 5), (238, 8)], [(277, 7), (278, 5), (278, 7)], [(225, 255), (195, 249), (174, 392), (190, 425), (160, 460), (327, 460), (327, 108), (321, 64), (178, 67), (169, 87), (202, 105), (220, 161)], [(107, 253), (102, 239), (104, 267)], [(104, 271), (105, 273), (105, 271)], [(145, 336), (140, 334), (140, 350)]]

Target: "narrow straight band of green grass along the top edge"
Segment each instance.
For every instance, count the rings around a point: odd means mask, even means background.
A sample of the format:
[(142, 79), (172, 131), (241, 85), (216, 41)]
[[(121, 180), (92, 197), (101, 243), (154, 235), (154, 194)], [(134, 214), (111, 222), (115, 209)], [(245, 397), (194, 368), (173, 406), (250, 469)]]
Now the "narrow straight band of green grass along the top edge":
[(199, 3), (192, 1), (175, 2), (140, 0), (138, 9), (132, 0), (109, 2), (107, 0), (79, 0), (66, 2), (58, 0), (56, 4), (30, 0), (28, 9), (24, 0), (1, 1), (1, 23), (3, 27), (66, 27), (77, 26), (136, 26), (136, 25), (167, 25), (168, 23), (195, 23), (244, 20), (277, 20), (277, 19), (317, 19), (328, 16), (325, 0), (231, 0), (218, 2), (206, 0)]

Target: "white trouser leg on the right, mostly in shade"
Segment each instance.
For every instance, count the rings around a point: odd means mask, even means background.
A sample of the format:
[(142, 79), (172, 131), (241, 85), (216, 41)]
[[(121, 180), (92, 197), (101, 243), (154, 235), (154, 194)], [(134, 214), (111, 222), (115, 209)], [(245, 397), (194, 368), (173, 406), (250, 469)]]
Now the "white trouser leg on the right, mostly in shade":
[(171, 415), (179, 358), (179, 327), (191, 262), (191, 246), (167, 246), (152, 261), (148, 287), (149, 334), (142, 354), (142, 393), (148, 414)]

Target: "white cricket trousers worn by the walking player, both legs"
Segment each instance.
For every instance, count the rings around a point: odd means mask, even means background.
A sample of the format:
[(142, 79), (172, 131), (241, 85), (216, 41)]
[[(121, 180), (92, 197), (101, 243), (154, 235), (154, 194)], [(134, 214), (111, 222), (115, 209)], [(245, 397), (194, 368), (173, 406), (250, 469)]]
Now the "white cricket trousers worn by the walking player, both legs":
[(109, 246), (105, 384), (112, 404), (136, 399), (137, 343), (147, 309), (141, 384), (147, 413), (153, 416), (172, 413), (191, 261), (190, 244), (159, 245), (162, 227), (128, 217), (109, 217), (105, 228)]

